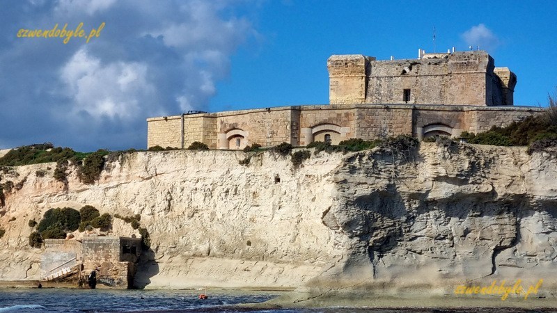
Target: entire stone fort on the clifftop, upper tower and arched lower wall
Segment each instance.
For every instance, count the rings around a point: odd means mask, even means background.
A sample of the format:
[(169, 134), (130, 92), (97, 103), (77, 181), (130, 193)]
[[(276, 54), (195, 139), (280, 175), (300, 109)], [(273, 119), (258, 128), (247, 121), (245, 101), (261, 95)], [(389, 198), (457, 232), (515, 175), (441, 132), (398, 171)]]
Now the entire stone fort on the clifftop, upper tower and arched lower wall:
[(211, 149), (235, 150), (253, 143), (338, 144), (399, 134), (457, 137), (542, 111), (513, 106), (516, 75), (508, 67), (495, 67), (485, 51), (418, 50), (417, 59), (390, 61), (334, 55), (327, 68), (328, 105), (148, 118), (147, 145), (185, 148), (199, 141)]

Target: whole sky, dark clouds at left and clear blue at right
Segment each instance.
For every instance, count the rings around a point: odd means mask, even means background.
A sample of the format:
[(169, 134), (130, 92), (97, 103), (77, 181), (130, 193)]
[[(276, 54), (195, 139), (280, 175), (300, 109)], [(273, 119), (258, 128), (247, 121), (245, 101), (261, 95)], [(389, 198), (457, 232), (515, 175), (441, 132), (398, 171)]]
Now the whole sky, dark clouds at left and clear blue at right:
[[(145, 149), (150, 117), (327, 104), (332, 54), (387, 60), (472, 46), (517, 74), (515, 105), (547, 106), (557, 86), (555, 1), (7, 0), (0, 8), (0, 149)], [(64, 26), (77, 36), (55, 37)], [(54, 31), (30, 38), (35, 30)]]

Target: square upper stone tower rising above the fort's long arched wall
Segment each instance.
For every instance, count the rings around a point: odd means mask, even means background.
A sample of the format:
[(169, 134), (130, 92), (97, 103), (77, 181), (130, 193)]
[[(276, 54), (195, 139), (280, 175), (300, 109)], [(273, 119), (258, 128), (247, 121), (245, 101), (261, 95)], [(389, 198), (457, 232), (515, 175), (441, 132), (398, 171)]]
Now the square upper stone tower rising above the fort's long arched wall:
[(512, 105), (516, 83), (508, 69), (494, 72), (485, 51), (393, 61), (331, 56), (327, 68), (331, 104)]

